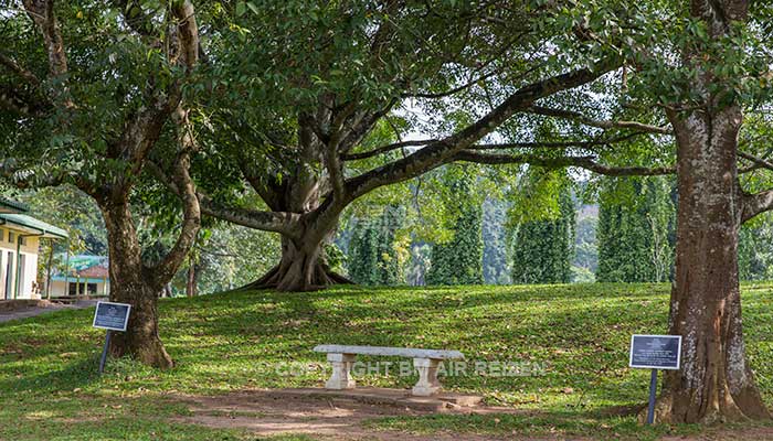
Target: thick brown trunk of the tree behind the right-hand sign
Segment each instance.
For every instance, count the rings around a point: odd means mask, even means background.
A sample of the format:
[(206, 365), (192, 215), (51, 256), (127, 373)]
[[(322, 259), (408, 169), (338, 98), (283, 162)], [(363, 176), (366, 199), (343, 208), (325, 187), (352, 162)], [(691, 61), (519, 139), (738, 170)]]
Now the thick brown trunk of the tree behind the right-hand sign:
[(769, 418), (743, 344), (738, 278), (741, 194), (739, 107), (670, 115), (677, 135), (679, 208), (670, 334), (681, 369), (666, 375), (658, 419), (726, 422)]

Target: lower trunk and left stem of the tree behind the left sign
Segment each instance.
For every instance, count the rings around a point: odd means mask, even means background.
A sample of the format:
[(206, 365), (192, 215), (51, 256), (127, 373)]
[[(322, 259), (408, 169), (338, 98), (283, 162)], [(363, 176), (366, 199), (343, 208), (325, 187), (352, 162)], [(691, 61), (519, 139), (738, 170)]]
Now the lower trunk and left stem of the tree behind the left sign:
[(116, 332), (110, 338), (110, 354), (129, 355), (155, 367), (172, 367), (158, 335), (157, 293), (161, 287), (153, 286), (142, 265), (129, 205), (110, 202), (100, 207), (109, 244), (110, 301), (131, 305), (126, 332)]

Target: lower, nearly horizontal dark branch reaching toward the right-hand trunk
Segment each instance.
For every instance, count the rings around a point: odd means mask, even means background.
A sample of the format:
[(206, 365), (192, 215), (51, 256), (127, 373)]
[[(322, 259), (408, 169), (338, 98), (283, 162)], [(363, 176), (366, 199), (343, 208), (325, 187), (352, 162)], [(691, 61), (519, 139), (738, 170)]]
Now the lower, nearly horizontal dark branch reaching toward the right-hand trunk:
[(676, 173), (674, 166), (611, 166), (596, 162), (594, 157), (561, 157), (544, 158), (534, 154), (493, 154), (460, 150), (454, 155), (454, 161), (474, 162), (477, 164), (531, 164), (549, 169), (578, 166), (607, 176), (656, 176)]

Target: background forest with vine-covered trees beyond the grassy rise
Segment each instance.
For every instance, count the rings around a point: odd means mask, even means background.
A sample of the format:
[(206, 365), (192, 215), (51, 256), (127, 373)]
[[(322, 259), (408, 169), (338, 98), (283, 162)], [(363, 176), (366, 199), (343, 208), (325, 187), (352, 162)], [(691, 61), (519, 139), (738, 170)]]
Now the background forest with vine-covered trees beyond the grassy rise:
[[(506, 193), (491, 197), (469, 175), (441, 174), (442, 182), (421, 196), (414, 184), (403, 194), (392, 192), (385, 205), (379, 200), (349, 211), (326, 246), (331, 266), (364, 286), (664, 282), (674, 277), (677, 198), (669, 179), (618, 179), (596, 187), (574, 182), (555, 201), (533, 193), (513, 201)], [(36, 217), (70, 232), (71, 254), (106, 255), (102, 215), (80, 191), (62, 186), (14, 196)], [(445, 212), (426, 213), (417, 204)], [(137, 219), (146, 257), (166, 251), (173, 227), (155, 213), (138, 213)], [(44, 258), (54, 252), (52, 266), (62, 271), (66, 244), (44, 240), (41, 247)], [(210, 219), (170, 291), (197, 295), (234, 289), (265, 273), (278, 257), (276, 235)], [(742, 228), (739, 257), (742, 280), (773, 279), (770, 216)], [(41, 266), (41, 277), (46, 270)]]

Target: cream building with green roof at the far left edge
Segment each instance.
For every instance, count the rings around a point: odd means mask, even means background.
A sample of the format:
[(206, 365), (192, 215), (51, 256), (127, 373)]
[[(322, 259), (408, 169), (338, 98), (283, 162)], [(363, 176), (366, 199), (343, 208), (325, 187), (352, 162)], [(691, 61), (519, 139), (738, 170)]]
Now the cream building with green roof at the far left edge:
[(35, 299), (41, 239), (67, 239), (67, 232), (39, 220), (29, 208), (0, 197), (0, 300)]

